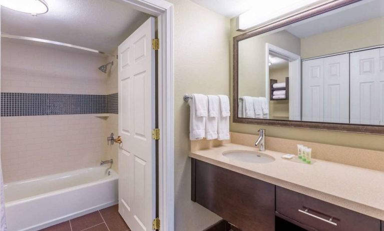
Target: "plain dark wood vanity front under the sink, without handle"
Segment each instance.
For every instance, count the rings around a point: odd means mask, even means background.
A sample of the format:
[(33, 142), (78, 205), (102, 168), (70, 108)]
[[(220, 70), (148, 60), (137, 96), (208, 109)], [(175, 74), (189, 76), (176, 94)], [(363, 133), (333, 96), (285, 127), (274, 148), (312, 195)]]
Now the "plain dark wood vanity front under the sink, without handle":
[(192, 200), (243, 231), (275, 230), (273, 184), (192, 159)]

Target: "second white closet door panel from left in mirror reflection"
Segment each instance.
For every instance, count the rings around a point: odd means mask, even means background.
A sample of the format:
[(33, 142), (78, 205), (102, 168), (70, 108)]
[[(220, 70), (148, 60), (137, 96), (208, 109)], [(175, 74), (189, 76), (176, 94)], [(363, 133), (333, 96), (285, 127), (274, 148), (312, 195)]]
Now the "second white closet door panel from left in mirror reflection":
[(349, 123), (349, 54), (324, 58), (324, 122)]

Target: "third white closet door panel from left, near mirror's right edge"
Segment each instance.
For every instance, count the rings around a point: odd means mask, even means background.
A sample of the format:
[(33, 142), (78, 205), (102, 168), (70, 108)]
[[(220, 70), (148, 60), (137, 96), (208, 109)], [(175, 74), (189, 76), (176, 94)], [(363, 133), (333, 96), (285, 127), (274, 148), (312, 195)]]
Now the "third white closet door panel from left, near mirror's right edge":
[(350, 54), (350, 122), (380, 124), (383, 72), (380, 49)]

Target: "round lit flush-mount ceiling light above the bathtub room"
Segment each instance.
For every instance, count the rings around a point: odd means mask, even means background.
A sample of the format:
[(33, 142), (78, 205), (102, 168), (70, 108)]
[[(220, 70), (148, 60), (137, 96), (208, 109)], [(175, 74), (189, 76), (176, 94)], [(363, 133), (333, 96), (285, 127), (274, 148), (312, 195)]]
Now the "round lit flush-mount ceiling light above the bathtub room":
[(48, 4), (44, 0), (1, 0), (2, 6), (32, 15), (48, 12)]

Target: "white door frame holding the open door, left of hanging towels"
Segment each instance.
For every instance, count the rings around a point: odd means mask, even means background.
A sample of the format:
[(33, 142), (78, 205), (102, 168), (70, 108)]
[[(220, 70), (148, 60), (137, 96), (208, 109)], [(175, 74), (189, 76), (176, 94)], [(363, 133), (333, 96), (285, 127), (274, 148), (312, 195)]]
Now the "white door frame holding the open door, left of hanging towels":
[(174, 230), (173, 4), (165, 0), (119, 0), (158, 19), (159, 218)]

